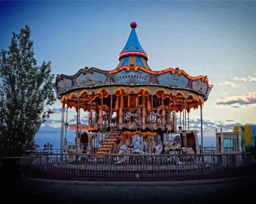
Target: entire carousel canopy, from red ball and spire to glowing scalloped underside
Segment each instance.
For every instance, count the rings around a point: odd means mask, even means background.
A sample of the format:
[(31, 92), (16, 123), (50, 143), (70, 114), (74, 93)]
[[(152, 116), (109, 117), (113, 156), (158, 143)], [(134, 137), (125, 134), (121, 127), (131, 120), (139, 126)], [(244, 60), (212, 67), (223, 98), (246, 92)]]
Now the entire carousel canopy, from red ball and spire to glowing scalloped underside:
[[(71, 107), (77, 107), (80, 98), (80, 102), (83, 102), (81, 108), (83, 106), (84, 110), (89, 109), (88, 107), (93, 108), (92, 100), (96, 97), (108, 97), (108, 95), (118, 97), (120, 90), (126, 95), (147, 93), (148, 99), (150, 99), (149, 95), (162, 97), (163, 104), (171, 108), (171, 104), (174, 103), (173, 109), (176, 111), (182, 109), (189, 111), (203, 104), (213, 87), (209, 84), (208, 78), (203, 75), (191, 77), (179, 68), (151, 70), (147, 64), (148, 55), (138, 41), (136, 26), (135, 22), (131, 23), (131, 33), (119, 55), (120, 63), (117, 68), (106, 71), (85, 67), (71, 76), (57, 75), (54, 89), (58, 98), (64, 104), (73, 104), (70, 105)], [(110, 104), (108, 101), (105, 102), (104, 105)]]

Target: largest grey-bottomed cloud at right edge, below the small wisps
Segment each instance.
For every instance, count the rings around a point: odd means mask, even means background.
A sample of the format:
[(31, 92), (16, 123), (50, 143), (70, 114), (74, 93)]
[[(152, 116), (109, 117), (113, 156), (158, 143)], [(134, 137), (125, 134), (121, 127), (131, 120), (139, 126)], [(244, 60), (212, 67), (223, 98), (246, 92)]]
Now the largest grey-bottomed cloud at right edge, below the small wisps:
[[(248, 92), (244, 96), (229, 96), (225, 99), (219, 99), (216, 101), (217, 105), (232, 105), (232, 104), (255, 104), (256, 103), (256, 92)], [(237, 107), (235, 107), (237, 108)]]

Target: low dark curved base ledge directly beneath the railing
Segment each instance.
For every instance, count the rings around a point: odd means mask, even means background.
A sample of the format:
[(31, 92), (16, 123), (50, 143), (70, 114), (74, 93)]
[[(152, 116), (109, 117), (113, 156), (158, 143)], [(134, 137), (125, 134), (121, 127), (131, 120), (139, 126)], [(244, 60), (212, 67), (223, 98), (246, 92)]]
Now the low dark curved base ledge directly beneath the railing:
[(142, 177), (134, 179), (134, 177), (114, 177), (109, 180), (107, 177), (28, 177), (27, 181), (42, 182), (49, 184), (74, 184), (86, 186), (182, 186), (182, 185), (198, 185), (198, 184), (215, 184), (226, 183), (232, 181), (245, 180), (248, 175), (234, 175), (232, 173), (214, 174), (214, 175), (194, 175), (194, 176), (155, 176)]

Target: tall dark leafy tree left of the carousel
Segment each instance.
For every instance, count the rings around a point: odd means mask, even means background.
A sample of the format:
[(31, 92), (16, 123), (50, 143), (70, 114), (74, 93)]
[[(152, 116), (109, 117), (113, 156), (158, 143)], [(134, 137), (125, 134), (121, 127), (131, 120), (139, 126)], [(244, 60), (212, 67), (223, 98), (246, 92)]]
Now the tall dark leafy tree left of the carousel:
[(28, 25), (12, 34), (0, 53), (0, 154), (20, 155), (35, 148), (34, 137), (54, 103), (51, 62), (37, 66)]

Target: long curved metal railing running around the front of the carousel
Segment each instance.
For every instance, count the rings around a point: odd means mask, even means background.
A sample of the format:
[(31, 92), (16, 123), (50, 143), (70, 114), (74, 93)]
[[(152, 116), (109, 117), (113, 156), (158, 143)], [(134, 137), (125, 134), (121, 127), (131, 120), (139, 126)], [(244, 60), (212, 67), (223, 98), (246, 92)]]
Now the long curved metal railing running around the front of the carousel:
[(96, 155), (32, 154), (22, 169), (34, 176), (172, 176), (235, 172), (246, 167), (246, 154)]

